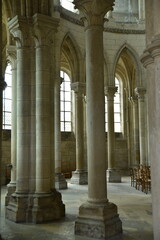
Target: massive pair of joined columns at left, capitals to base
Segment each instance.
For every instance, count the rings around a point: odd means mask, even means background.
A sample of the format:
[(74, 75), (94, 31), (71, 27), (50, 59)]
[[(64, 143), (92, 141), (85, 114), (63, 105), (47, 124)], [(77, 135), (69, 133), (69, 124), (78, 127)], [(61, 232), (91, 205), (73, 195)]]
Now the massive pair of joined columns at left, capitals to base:
[(30, 21), (19, 16), (9, 21), (17, 47), (17, 96), (13, 101), (17, 106), (17, 169), (16, 190), (9, 197), (6, 217), (14, 222), (41, 223), (65, 215), (53, 181), (49, 49), (57, 26), (57, 19), (42, 14)]

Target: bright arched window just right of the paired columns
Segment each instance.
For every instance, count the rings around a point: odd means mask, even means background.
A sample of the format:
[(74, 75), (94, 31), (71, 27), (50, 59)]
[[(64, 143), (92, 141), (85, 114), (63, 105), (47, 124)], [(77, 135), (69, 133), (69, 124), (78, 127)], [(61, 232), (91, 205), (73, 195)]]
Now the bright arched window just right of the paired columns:
[(61, 71), (61, 78), (63, 82), (61, 84), (60, 90), (60, 121), (61, 121), (61, 131), (70, 132), (71, 131), (71, 80), (67, 73)]

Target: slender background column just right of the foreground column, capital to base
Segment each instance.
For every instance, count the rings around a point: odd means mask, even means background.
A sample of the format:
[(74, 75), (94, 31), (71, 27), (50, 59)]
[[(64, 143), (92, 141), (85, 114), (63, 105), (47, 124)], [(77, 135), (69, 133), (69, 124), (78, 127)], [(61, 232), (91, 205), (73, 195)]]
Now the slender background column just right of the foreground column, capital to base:
[(120, 170), (115, 166), (115, 132), (114, 132), (114, 96), (117, 87), (106, 88), (107, 108), (108, 108), (108, 182), (121, 182)]

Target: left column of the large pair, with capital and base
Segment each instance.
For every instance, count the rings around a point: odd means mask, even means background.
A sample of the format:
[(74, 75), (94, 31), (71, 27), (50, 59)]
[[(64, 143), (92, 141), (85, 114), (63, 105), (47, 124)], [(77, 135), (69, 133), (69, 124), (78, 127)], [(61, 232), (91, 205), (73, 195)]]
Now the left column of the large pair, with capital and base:
[(6, 218), (15, 222), (28, 219), (29, 158), (30, 158), (30, 48), (29, 24), (15, 16), (9, 30), (17, 46), (17, 171), (16, 191), (6, 207)]

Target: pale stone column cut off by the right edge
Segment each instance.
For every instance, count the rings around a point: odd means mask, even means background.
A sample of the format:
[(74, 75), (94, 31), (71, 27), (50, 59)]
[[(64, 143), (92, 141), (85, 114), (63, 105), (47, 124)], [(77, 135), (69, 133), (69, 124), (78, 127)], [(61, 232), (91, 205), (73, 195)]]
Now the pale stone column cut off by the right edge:
[[(153, 234), (154, 240), (160, 236), (160, 1), (146, 0), (146, 19), (152, 13), (152, 28), (147, 25), (147, 48), (141, 57), (147, 71), (147, 98), (148, 98), (148, 123), (149, 123), (149, 160), (151, 163), (152, 181), (152, 209), (153, 209)], [(153, 14), (154, 13), (154, 14)], [(154, 26), (154, 27), (153, 27)], [(153, 30), (154, 31), (153, 31)], [(149, 34), (152, 30), (152, 38)], [(149, 33), (148, 33), (149, 32)]]

